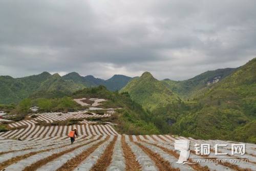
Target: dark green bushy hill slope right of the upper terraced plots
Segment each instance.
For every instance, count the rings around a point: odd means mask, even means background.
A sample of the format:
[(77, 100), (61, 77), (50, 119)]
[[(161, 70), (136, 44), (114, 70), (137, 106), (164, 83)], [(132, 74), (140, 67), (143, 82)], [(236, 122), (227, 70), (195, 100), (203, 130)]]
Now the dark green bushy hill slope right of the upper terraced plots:
[(108, 91), (105, 87), (83, 89), (73, 95), (74, 98), (103, 98), (104, 108), (121, 108), (112, 122), (117, 123), (120, 133), (129, 135), (160, 134), (160, 131), (150, 120), (150, 113), (145, 111), (141, 105), (133, 101), (129, 94)]

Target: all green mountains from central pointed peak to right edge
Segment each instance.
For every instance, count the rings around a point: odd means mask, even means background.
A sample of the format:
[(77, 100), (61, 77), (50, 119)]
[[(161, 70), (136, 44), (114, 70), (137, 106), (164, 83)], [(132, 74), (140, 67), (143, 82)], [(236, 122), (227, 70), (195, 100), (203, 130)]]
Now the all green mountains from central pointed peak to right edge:
[[(207, 86), (218, 76), (222, 79)], [(146, 72), (121, 92), (151, 111), (150, 120), (161, 133), (256, 143), (256, 58), (238, 69), (206, 72), (179, 84), (160, 82)], [(196, 96), (176, 100), (178, 95), (166, 88)]]

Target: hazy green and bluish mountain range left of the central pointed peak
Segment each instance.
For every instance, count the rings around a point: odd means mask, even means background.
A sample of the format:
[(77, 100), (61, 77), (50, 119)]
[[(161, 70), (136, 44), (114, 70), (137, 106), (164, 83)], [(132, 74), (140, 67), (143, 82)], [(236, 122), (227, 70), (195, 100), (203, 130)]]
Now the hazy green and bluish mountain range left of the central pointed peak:
[(65, 76), (43, 72), (23, 78), (0, 76), (0, 104), (18, 103), (28, 97), (64, 97), (77, 90), (89, 87), (105, 86), (108, 90), (120, 90), (132, 78), (114, 75), (108, 80), (95, 78), (91, 75), (80, 76), (76, 72)]

